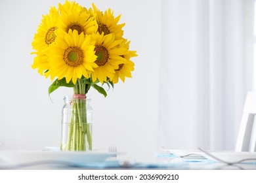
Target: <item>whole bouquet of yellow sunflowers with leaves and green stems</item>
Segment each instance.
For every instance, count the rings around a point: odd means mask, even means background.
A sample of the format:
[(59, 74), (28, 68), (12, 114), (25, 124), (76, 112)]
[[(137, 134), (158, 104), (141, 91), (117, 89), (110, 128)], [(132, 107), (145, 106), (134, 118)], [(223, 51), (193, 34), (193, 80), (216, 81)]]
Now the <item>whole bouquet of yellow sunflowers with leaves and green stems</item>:
[(62, 86), (74, 88), (68, 142), (62, 150), (86, 150), (86, 144), (92, 148), (87, 116), (82, 115), (89, 89), (106, 97), (102, 85), (114, 87), (119, 79), (131, 78), (131, 58), (137, 54), (129, 50), (130, 41), (123, 38), (125, 24), (118, 24), (119, 19), (110, 8), (102, 12), (94, 4), (87, 9), (66, 1), (43, 15), (34, 35), (32, 68), (51, 78), (49, 95)]

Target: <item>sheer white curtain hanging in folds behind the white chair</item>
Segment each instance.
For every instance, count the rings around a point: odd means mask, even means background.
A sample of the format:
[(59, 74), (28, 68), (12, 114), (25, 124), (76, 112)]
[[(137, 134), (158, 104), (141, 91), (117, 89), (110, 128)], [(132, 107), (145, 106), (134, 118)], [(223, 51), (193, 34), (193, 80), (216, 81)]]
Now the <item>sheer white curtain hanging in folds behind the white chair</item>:
[(162, 1), (159, 144), (233, 150), (251, 90), (253, 0)]

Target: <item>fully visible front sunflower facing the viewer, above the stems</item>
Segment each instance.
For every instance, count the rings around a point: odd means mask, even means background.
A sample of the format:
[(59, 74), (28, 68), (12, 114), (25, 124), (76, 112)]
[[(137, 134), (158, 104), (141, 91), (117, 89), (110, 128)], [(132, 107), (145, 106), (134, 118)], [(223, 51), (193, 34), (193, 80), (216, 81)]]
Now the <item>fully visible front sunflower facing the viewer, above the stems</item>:
[(67, 83), (72, 80), (74, 84), (77, 78), (89, 78), (89, 71), (98, 67), (94, 44), (89, 35), (79, 34), (76, 30), (63, 32), (49, 50), (51, 78), (56, 76), (60, 80), (66, 77)]

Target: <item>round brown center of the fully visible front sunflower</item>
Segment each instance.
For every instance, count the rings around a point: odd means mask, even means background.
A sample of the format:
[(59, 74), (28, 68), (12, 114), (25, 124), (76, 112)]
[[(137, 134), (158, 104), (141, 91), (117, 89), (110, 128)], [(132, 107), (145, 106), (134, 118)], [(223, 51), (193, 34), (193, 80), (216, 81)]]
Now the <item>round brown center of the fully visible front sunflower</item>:
[(83, 50), (77, 46), (69, 46), (63, 54), (63, 60), (70, 67), (77, 67), (83, 63)]

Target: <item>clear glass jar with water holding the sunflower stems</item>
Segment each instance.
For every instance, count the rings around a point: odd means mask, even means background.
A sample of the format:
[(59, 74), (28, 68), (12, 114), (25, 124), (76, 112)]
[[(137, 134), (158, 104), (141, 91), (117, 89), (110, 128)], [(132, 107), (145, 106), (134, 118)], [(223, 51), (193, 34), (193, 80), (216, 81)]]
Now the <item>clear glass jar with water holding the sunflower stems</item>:
[(93, 108), (90, 101), (85, 95), (79, 94), (64, 97), (61, 150), (92, 150)]

